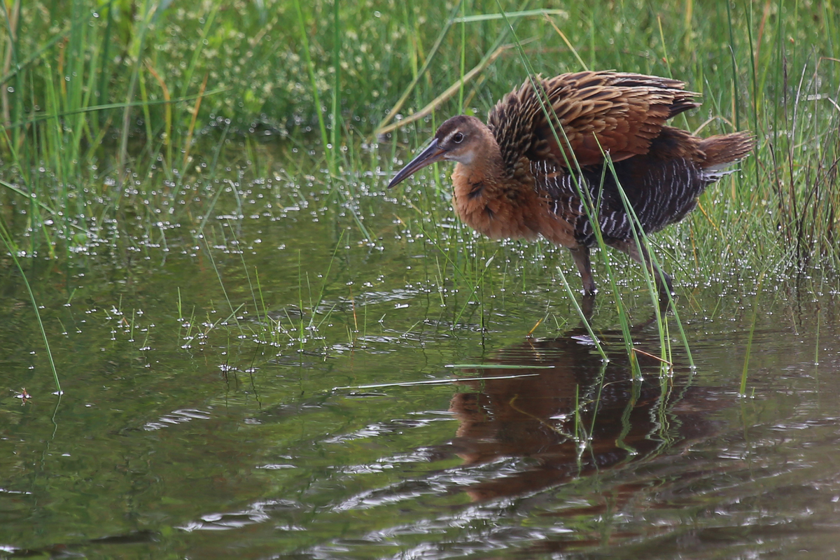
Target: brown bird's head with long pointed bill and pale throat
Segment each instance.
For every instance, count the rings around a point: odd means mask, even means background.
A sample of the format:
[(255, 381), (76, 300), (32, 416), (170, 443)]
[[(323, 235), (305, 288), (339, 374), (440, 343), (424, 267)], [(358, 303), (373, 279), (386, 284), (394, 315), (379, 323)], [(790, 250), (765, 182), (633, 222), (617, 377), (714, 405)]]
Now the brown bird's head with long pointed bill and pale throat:
[(490, 129), (475, 117), (459, 115), (450, 118), (440, 125), (431, 144), (428, 144), (428, 148), (417, 154), (417, 157), (394, 175), (388, 183), (388, 188), (396, 186), (410, 175), (436, 161), (450, 160), (464, 165), (472, 164), (476, 155), (480, 154), (481, 147), (486, 143), (488, 136), (492, 139)]

